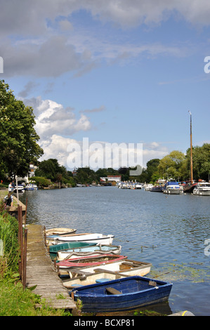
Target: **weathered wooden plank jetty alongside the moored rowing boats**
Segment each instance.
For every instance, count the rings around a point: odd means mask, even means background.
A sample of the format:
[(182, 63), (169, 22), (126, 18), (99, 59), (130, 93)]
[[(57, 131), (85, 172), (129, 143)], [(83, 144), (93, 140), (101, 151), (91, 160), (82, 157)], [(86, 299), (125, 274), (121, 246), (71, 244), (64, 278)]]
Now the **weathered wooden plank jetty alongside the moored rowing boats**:
[(45, 245), (44, 227), (27, 225), (26, 287), (37, 286), (33, 292), (51, 308), (76, 310), (76, 305), (58, 277), (58, 272)]

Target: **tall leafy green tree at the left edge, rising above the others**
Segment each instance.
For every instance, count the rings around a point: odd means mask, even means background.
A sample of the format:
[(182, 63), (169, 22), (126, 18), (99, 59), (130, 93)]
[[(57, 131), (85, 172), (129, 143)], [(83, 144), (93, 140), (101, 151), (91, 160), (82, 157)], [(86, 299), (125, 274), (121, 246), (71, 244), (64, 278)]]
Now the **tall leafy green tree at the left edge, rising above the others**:
[(35, 124), (32, 107), (16, 100), (8, 84), (0, 80), (0, 166), (11, 178), (25, 176), (29, 163), (44, 153), (37, 144)]

